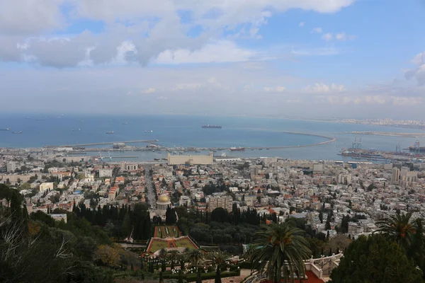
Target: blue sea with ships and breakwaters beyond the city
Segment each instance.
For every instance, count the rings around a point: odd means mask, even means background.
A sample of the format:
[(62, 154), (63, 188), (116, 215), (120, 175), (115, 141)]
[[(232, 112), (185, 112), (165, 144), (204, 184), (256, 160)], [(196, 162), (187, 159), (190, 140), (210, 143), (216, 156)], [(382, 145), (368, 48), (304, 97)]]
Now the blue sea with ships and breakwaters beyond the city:
[[(222, 129), (205, 129), (202, 125), (220, 125)], [(60, 146), (66, 144), (89, 144), (111, 141), (158, 139), (160, 145), (168, 147), (273, 147), (317, 144), (326, 141), (318, 134), (336, 138), (336, 141), (319, 146), (295, 147), (290, 149), (263, 149), (245, 151), (218, 151), (235, 157), (281, 157), (291, 159), (350, 161), (340, 156), (341, 149), (350, 148), (354, 139), (361, 138), (362, 149), (395, 151), (396, 145), (407, 148), (419, 139), (425, 138), (382, 137), (373, 135), (344, 134), (344, 132), (423, 132), (377, 125), (358, 125), (314, 120), (293, 120), (247, 116), (212, 115), (0, 115), (0, 147), (28, 148)], [(18, 133), (22, 132), (22, 133)], [(106, 134), (114, 132), (114, 134)], [(145, 146), (146, 144), (132, 144)], [(111, 148), (112, 145), (96, 146)], [(195, 154), (194, 152), (192, 154)], [(199, 154), (206, 154), (201, 152)], [(88, 155), (99, 155), (89, 152)], [(105, 154), (104, 154), (105, 155)], [(120, 156), (137, 156), (125, 159)], [(108, 155), (106, 155), (108, 156)], [(124, 151), (112, 152), (113, 161), (150, 161), (166, 158), (165, 151)]]

